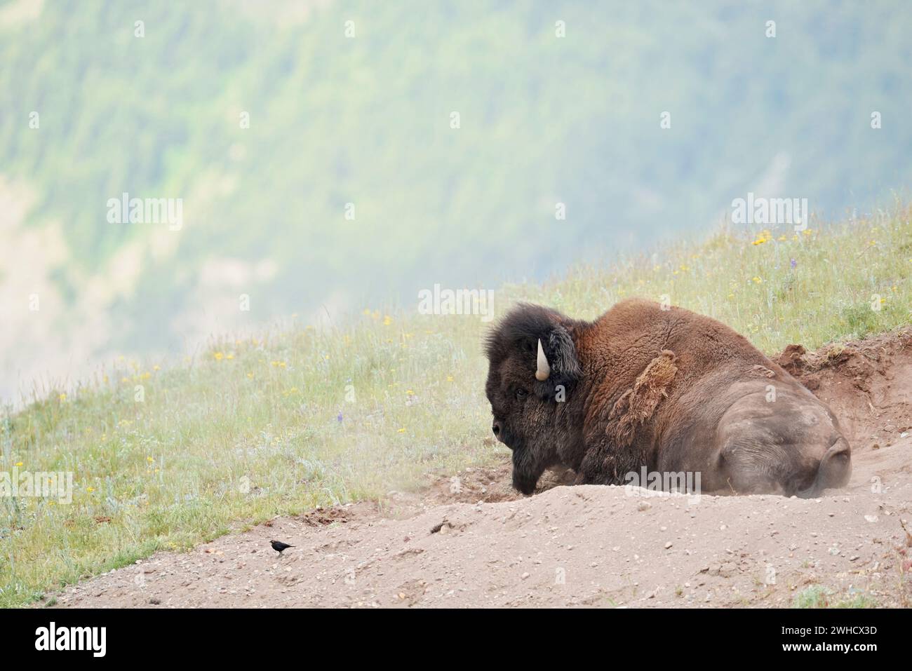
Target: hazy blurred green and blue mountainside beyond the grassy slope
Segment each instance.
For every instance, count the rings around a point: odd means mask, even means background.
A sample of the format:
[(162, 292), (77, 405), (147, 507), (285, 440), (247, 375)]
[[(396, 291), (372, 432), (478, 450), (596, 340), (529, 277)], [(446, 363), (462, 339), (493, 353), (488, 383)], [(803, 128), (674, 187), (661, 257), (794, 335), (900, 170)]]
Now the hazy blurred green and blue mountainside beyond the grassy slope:
[[(910, 35), (901, 1), (0, 2), (0, 398), (702, 237), (748, 191), (886, 205)], [(181, 230), (109, 223), (124, 191)]]

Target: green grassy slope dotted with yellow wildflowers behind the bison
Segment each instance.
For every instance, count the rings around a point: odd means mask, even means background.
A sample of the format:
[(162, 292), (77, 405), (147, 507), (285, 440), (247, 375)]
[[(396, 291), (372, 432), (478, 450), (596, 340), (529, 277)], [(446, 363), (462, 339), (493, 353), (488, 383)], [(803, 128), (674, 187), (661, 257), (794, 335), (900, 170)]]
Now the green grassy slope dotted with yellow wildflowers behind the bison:
[[(531, 300), (591, 318), (627, 296), (665, 295), (764, 351), (814, 348), (909, 323), (910, 215), (897, 206), (799, 235), (717, 232), (505, 286), (494, 305), (503, 313)], [(484, 442), (487, 327), (478, 316), (373, 307), (327, 330), (293, 316), (175, 364), (121, 359), (66, 395), (7, 408), (0, 471), (71, 471), (75, 491), (68, 505), (0, 498), (0, 605), (275, 515), (503, 458)]]

